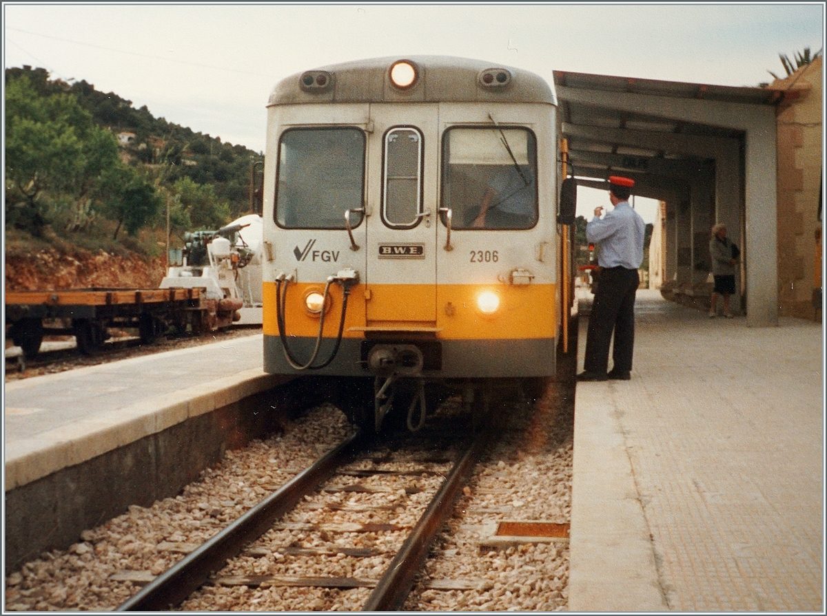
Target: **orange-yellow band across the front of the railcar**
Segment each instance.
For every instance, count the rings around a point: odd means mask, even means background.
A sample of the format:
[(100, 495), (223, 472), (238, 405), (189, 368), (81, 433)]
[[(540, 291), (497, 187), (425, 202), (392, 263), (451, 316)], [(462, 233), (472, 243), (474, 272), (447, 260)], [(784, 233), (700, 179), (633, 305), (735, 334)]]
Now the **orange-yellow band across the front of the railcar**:
[[(285, 302), (285, 329), (289, 336), (318, 335), (318, 316), (304, 307), (304, 298), (321, 293), (323, 284), (290, 284)], [(483, 291), (499, 300), (495, 312), (485, 315), (478, 305)], [(342, 288), (332, 285), (325, 313), (326, 338), (337, 335), (342, 315)], [(344, 337), (362, 338), (366, 330), (410, 331), (437, 339), (554, 338), (557, 288), (553, 284), (528, 285), (408, 285), (359, 284), (351, 290)], [(264, 283), (265, 335), (278, 336), (275, 282)]]

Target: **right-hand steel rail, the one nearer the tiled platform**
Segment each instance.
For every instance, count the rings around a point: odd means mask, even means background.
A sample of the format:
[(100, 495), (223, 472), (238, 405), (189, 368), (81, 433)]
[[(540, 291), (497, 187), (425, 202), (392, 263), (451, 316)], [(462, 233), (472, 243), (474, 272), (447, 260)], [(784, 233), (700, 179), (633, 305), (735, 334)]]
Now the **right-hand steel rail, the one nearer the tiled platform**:
[(433, 497), (428, 509), (419, 519), (408, 539), (390, 562), (375, 589), (362, 606), (364, 612), (386, 612), (400, 610), (411, 589), (418, 571), (422, 568), (433, 540), (437, 537), (442, 524), (451, 514), (462, 484), (471, 473), (485, 445), (488, 443), (488, 430), (480, 431), (471, 442), (456, 466), (442, 483), (442, 487)]

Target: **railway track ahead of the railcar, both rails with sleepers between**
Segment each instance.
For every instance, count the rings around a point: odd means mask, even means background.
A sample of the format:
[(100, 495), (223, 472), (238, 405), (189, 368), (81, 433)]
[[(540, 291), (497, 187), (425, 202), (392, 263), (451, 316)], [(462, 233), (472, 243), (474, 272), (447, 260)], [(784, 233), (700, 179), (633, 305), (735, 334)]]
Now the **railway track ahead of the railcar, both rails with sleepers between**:
[[(378, 453), (379, 443), (371, 443), (361, 433), (355, 434), (155, 578), (118, 611), (161, 610), (179, 605), (183, 609), (199, 609), (197, 595), (203, 585), (213, 589), (363, 588), (371, 590), (361, 609), (402, 609), (433, 539), (451, 513), (487, 442), (486, 433), (480, 431), (459, 451), (447, 456), (445, 452), (451, 451), (453, 444), (434, 440), (437, 434), (442, 434), (442, 438), (451, 434), (446, 428), (442, 425), (426, 438), (394, 437), (406, 442), (390, 443), (385, 453)], [(405, 481), (408, 483), (400, 488), (399, 484)], [(399, 498), (400, 493), (405, 496)], [(350, 496), (345, 500), (343, 495)], [(423, 495), (431, 495), (427, 503), (423, 502)], [(405, 509), (421, 510), (415, 524), (399, 521), (399, 511)], [(337, 522), (314, 522), (319, 516), (324, 520), (333, 517)], [(408, 533), (404, 541), (399, 540), (400, 533)], [(342, 539), (332, 541), (335, 535)], [(370, 543), (381, 548), (358, 545), (358, 538), (364, 535), (370, 535)], [(353, 545), (343, 545), (348, 537), (356, 538)], [(389, 552), (390, 545), (395, 552)], [(256, 557), (274, 554), (291, 559), (289, 576), (247, 571), (250, 557), (255, 562)], [(370, 577), (313, 575), (318, 569), (329, 571), (329, 562), (321, 566), (318, 562), (331, 557), (378, 557), (384, 562), (385, 571), (381, 576)], [(301, 575), (303, 570), (306, 575)], [(190, 602), (196, 605), (188, 607)], [(329, 608), (313, 604), (308, 609)]]

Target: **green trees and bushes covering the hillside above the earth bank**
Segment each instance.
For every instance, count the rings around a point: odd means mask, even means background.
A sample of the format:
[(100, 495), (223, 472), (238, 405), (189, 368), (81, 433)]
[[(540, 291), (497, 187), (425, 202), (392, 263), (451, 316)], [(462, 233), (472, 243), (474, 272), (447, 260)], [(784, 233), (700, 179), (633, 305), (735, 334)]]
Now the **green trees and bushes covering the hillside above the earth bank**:
[[(85, 239), (114, 229), (117, 241), (121, 230), (165, 229), (165, 204), (176, 234), (217, 229), (249, 210), (252, 150), (46, 69), (8, 68), (5, 80), (7, 225)], [(121, 131), (134, 139), (119, 146)]]

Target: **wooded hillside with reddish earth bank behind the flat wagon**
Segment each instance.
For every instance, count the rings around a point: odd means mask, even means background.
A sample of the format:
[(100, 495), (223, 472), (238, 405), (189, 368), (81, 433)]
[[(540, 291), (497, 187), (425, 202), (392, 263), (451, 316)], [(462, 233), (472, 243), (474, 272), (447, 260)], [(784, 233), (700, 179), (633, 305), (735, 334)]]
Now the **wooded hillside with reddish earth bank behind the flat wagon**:
[(5, 83), (7, 291), (157, 287), (168, 224), (179, 248), (261, 211), (261, 153), (45, 69)]

